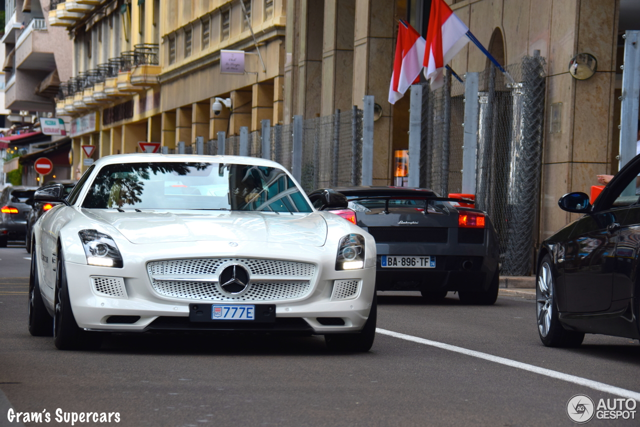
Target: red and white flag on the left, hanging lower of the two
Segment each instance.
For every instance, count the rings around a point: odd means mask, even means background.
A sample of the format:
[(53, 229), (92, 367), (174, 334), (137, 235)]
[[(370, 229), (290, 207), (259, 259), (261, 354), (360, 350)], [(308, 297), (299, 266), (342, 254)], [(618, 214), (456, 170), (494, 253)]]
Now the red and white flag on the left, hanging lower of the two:
[(413, 83), (420, 81), (424, 46), (424, 37), (421, 37), (410, 24), (400, 21), (394, 73), (391, 76), (391, 85), (389, 86), (390, 104), (395, 104)]

